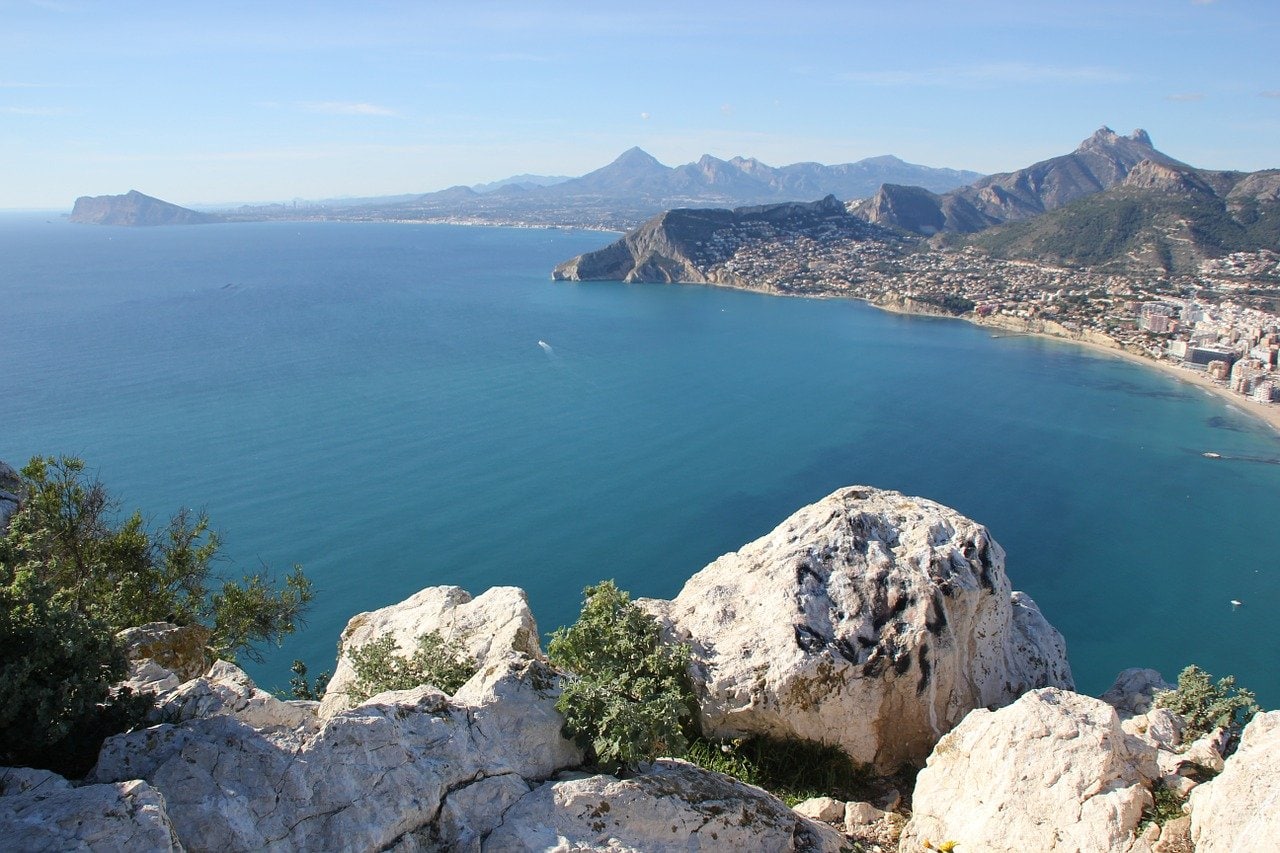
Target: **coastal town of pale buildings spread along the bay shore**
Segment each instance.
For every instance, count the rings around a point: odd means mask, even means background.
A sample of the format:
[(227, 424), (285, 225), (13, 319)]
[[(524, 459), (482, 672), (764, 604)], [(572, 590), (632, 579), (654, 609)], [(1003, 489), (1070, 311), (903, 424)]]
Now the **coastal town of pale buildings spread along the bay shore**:
[(1280, 254), (1271, 250), (1158, 277), (1000, 260), (972, 247), (922, 251), (835, 231), (763, 241), (716, 234), (698, 248), (713, 283), (845, 296), (1107, 347), (1265, 406), (1280, 421)]

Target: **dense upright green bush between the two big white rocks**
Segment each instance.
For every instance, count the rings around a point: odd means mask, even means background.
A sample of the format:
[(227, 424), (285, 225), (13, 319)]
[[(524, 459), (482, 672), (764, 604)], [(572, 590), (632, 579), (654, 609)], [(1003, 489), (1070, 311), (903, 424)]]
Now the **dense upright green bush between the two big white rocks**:
[(556, 708), (564, 731), (618, 771), (680, 757), (694, 713), (689, 646), (662, 643), (658, 622), (612, 580), (582, 590), (582, 611), (552, 635), (548, 656), (568, 674)]

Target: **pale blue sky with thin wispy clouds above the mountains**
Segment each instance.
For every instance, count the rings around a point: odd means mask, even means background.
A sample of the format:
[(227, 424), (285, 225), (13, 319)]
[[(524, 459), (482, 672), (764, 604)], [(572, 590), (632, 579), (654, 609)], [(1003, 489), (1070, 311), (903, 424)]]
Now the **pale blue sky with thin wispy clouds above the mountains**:
[(0, 209), (429, 192), (893, 154), (1007, 172), (1106, 124), (1280, 167), (1276, 0), (0, 0)]

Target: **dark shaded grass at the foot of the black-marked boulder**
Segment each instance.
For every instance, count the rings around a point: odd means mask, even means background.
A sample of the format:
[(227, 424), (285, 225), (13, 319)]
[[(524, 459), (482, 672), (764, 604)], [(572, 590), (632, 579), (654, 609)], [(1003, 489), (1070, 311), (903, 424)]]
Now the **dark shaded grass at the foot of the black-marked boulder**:
[(840, 748), (812, 740), (699, 738), (689, 747), (689, 761), (705, 770), (764, 788), (795, 806), (812, 797), (872, 799), (874, 776)]

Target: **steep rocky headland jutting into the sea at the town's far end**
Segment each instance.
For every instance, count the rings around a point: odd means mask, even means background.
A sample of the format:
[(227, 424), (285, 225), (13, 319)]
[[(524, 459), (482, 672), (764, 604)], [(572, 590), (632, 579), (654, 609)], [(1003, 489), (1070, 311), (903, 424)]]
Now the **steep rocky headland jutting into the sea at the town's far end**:
[[(851, 216), (835, 196), (735, 210), (677, 209), (658, 214), (604, 248), (568, 260), (552, 273), (557, 280), (707, 283), (707, 270), (753, 241), (799, 234), (858, 237), (873, 231)], [(716, 278), (721, 283), (735, 283)]]

